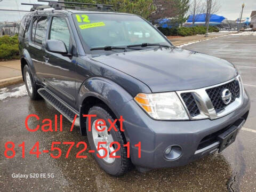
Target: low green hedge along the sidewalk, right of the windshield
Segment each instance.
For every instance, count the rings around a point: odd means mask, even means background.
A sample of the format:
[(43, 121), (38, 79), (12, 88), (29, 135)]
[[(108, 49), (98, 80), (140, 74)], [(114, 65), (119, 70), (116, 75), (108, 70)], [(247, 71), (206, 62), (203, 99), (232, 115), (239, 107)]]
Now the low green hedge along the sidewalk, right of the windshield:
[[(197, 34), (205, 34), (206, 27), (205, 26), (195, 26), (195, 27), (180, 27), (180, 28), (162, 28), (158, 27), (158, 29), (166, 36), (190, 36), (190, 35), (197, 35)], [(211, 32), (219, 32), (219, 29), (214, 26), (209, 26), (209, 33)]]

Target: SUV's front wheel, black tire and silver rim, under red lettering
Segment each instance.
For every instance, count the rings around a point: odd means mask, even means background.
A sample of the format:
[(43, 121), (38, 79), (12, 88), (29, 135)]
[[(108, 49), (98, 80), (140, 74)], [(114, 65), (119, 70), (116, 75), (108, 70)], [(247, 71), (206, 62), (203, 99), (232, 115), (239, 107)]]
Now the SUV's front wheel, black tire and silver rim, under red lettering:
[[(93, 106), (89, 110), (88, 114), (89, 115), (97, 115), (97, 117), (91, 117), (91, 131), (89, 131), (89, 118), (86, 119), (87, 138), (88, 138), (91, 150), (95, 151), (95, 153), (93, 153), (95, 160), (102, 167), (102, 169), (105, 170), (108, 174), (111, 174), (114, 176), (119, 176), (119, 175), (123, 175), (124, 173), (128, 172), (132, 167), (132, 163), (131, 163), (130, 159), (127, 158), (127, 150), (126, 150), (126, 147), (124, 147), (124, 145), (126, 144), (124, 133), (120, 131), (119, 125), (117, 125), (117, 123), (115, 124), (115, 127), (118, 131), (115, 131), (114, 128), (112, 127), (110, 132), (107, 132), (107, 133), (105, 132), (106, 134), (108, 134), (108, 137), (111, 136), (113, 138), (113, 140), (111, 141), (111, 139), (106, 139), (105, 141), (107, 141), (109, 143), (109, 145), (107, 145), (107, 146), (110, 146), (110, 141), (111, 142), (116, 141), (120, 144), (120, 149), (115, 154), (113, 154), (113, 156), (121, 156), (121, 158), (107, 159), (107, 157), (106, 157), (105, 159), (103, 159), (103, 158), (99, 158), (97, 156), (97, 154), (100, 156), (105, 155), (105, 151), (97, 150), (98, 145), (95, 144), (97, 142), (94, 142), (94, 140), (95, 140), (94, 138), (97, 137), (97, 136), (95, 136), (95, 134), (97, 134), (98, 137), (100, 137), (100, 136), (98, 134), (99, 132), (96, 131), (95, 126), (93, 126), (93, 122), (95, 122), (97, 119), (104, 119), (107, 127), (109, 127), (110, 123), (108, 122), (107, 119), (110, 119), (111, 122), (114, 122), (113, 116), (110, 115), (110, 114), (112, 114), (111, 111), (106, 106), (98, 105), (98, 106)], [(103, 132), (102, 132), (102, 134), (103, 134)], [(107, 146), (103, 145), (101, 147), (107, 148)], [(113, 148), (117, 149), (116, 144), (113, 146), (114, 146)], [(108, 150), (113, 151), (113, 148), (112, 149), (108, 148)], [(101, 151), (101, 154), (100, 154), (100, 151)], [(114, 159), (114, 162), (112, 162), (113, 159)]]

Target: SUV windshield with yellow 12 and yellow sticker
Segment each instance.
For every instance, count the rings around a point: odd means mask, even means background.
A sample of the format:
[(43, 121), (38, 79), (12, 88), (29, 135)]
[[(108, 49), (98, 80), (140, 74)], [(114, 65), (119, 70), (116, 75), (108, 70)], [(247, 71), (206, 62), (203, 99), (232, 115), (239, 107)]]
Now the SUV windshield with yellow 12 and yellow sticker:
[(73, 17), (84, 43), (90, 48), (142, 43), (171, 46), (154, 27), (135, 15), (86, 13)]

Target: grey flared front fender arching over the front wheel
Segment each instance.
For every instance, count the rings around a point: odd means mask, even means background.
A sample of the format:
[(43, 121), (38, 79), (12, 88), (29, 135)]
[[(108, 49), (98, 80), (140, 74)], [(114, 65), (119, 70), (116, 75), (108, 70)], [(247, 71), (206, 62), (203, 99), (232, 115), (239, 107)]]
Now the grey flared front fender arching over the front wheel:
[(131, 99), (132, 96), (123, 87), (107, 78), (87, 79), (78, 94), (81, 134), (86, 134), (86, 117), (83, 115), (86, 115), (92, 106), (105, 106), (114, 118), (119, 118), (125, 103)]

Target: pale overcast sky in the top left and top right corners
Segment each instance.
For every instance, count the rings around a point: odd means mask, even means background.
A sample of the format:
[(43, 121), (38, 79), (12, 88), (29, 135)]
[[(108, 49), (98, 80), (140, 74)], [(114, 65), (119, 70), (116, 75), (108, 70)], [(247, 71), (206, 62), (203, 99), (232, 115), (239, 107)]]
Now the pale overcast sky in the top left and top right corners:
[[(205, 1), (205, 0), (201, 0)], [(216, 1), (216, 0), (213, 0)], [(256, 10), (256, 0), (217, 0), (221, 3), (221, 8), (217, 14), (223, 17), (236, 20), (241, 12), (242, 4), (245, 3), (243, 18), (250, 17), (251, 12)], [(37, 0), (0, 0), (0, 9), (27, 10), (31, 6), (21, 5), (21, 3), (37, 3)], [(40, 4), (45, 4), (40, 2)], [(26, 12), (0, 11), (0, 21), (21, 20)]]

